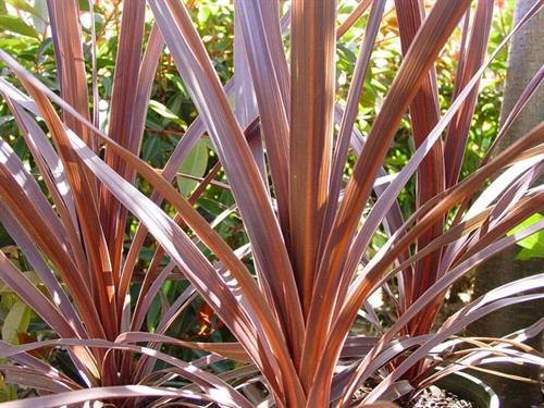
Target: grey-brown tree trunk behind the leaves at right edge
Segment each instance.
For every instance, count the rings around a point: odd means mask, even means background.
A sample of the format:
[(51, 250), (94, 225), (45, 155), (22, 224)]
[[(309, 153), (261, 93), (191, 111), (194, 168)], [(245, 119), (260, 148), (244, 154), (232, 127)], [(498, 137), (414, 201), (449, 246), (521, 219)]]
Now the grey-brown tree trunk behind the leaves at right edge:
[[(515, 9), (515, 24), (539, 0), (517, 0)], [(508, 72), (506, 75), (504, 103), (500, 111), (503, 123), (518, 100), (519, 96), (544, 63), (544, 12), (536, 14), (517, 35), (512, 38), (508, 53)], [(531, 101), (523, 108), (508, 134), (499, 145), (500, 149), (508, 147), (520, 136), (544, 120), (544, 87), (541, 86)], [(497, 255), (483, 267), (479, 268), (475, 275), (474, 295), (477, 298), (490, 289), (511, 282), (517, 279), (529, 276), (544, 271), (544, 259), (533, 258), (527, 261), (515, 260), (519, 249), (511, 247)], [(519, 329), (527, 327), (544, 314), (544, 302), (528, 302), (510, 307), (472, 324), (468, 332), (470, 335), (503, 336)], [(541, 337), (534, 339), (533, 347), (542, 350)], [(486, 367), (512, 374), (539, 379), (536, 367)], [(483, 378), (499, 395), (500, 407), (518, 408), (536, 406), (543, 401), (541, 385), (527, 384), (510, 381), (494, 375), (478, 374)]]

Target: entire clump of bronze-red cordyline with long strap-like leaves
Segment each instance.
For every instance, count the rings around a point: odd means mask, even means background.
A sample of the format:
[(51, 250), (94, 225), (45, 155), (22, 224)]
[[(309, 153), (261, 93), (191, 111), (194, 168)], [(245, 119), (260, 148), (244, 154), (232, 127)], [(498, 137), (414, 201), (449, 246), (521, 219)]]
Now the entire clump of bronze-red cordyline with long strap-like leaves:
[[(537, 184), (544, 125), (500, 153), (494, 153), (494, 144), (479, 169), (459, 181), (479, 79), (494, 57), (486, 59), (494, 2), (436, 0), (424, 10), (419, 0), (395, 1), (403, 63), (363, 137), (354, 124), (386, 3), (362, 0), (338, 25), (334, 0), (293, 0), (283, 15), (275, 0), (236, 0), (235, 74), (223, 86), (182, 1), (126, 0), (107, 134), (98, 128), (96, 70), (88, 95), (77, 1), (48, 1), (60, 96), (0, 51), (24, 91), (5, 78), (0, 90), (47, 186), (44, 193), (0, 138), (0, 222), (47, 290), (3, 254), (0, 277), (59, 337), (1, 344), (0, 357), (12, 361), (1, 367), (7, 380), (39, 394), (16, 401), (17, 407), (89, 400), (146, 407), (344, 407), (409, 399), (467, 367), (511, 359), (543, 363), (522, 344), (543, 329), (542, 320), (504, 338), (454, 334), (498, 308), (542, 299), (544, 274), (496, 288), (434, 325), (456, 280), (544, 227), (539, 221), (511, 232), (544, 205)], [(537, 1), (512, 33), (542, 5)], [(147, 7), (154, 25), (144, 41)], [(341, 107), (335, 102), (336, 39), (367, 11)], [(456, 29), (462, 40), (455, 95), (442, 114), (433, 63)], [(159, 170), (138, 153), (164, 45), (199, 116)], [(544, 70), (536, 73), (496, 139), (543, 75)], [(416, 151), (401, 171), (387, 176), (382, 164), (405, 114)], [(186, 199), (172, 182), (203, 134), (219, 163)], [(350, 150), (358, 159), (346, 178)], [(240, 248), (231, 248), (194, 208), (220, 168), (249, 239)], [(136, 174), (152, 186), (149, 197), (135, 187)], [(405, 220), (397, 198), (413, 175), (417, 208)], [(161, 209), (163, 200), (176, 210), (175, 218)], [(128, 213), (139, 226), (124, 250)], [(379, 231), (387, 240), (370, 257), (369, 244)], [(159, 249), (131, 301), (147, 234)], [(217, 261), (205, 256), (203, 247)], [(164, 254), (171, 262), (161, 269)], [(255, 272), (243, 262), (247, 257)], [(191, 286), (164, 308), (154, 333), (144, 332), (151, 300), (174, 268)], [(368, 301), (379, 288), (396, 308), (390, 326)], [(195, 294), (236, 343), (165, 335)], [(350, 335), (358, 316), (379, 335)], [(186, 362), (161, 353), (161, 345), (210, 354)], [(79, 378), (32, 353), (44, 347), (65, 347)], [(219, 374), (207, 369), (224, 359), (238, 364)], [(371, 391), (354, 398), (362, 384)]]

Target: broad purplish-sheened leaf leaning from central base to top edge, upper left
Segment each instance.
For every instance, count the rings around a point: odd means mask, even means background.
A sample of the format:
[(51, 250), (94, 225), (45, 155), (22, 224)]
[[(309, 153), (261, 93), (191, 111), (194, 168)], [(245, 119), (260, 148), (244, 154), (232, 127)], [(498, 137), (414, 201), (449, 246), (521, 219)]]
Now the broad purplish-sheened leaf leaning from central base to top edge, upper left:
[[(150, 1), (149, 4), (164, 40), (177, 61), (176, 66), (189, 94), (207, 124), (231, 182), (246, 231), (252, 240), (261, 282), (272, 294), (290, 353), (296, 354), (301, 349), (304, 335), (299, 298), (287, 249), (258, 168), (187, 11), (178, 2)], [(293, 397), (296, 394), (299, 392), (292, 392)]]

